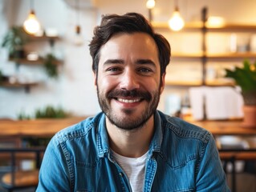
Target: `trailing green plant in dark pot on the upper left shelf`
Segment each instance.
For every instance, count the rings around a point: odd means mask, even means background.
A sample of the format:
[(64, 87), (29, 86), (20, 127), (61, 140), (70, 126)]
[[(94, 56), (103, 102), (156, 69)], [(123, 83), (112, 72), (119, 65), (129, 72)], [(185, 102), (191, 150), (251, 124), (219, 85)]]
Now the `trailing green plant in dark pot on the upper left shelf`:
[(25, 58), (24, 46), (28, 41), (29, 35), (22, 26), (13, 26), (4, 36), (2, 47), (8, 49), (10, 58)]

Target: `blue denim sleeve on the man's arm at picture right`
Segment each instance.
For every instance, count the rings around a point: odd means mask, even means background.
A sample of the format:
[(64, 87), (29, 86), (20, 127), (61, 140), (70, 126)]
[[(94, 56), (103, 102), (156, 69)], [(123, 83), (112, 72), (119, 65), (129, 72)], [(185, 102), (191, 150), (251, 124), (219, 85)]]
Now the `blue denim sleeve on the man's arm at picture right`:
[(198, 167), (196, 182), (197, 191), (200, 192), (230, 191), (212, 134), (209, 134), (209, 142), (206, 144), (205, 150), (201, 152), (201, 163)]

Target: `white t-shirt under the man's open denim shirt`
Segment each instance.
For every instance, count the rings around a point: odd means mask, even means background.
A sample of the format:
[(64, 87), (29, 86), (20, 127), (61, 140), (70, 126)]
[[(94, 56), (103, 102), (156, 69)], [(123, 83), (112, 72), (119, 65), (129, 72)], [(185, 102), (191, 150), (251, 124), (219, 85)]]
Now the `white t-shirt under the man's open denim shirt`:
[(122, 167), (124, 173), (127, 175), (133, 192), (143, 191), (144, 187), (144, 172), (145, 163), (148, 156), (148, 152), (142, 155), (140, 158), (127, 158), (120, 154), (116, 154), (112, 150), (113, 157), (116, 162)]

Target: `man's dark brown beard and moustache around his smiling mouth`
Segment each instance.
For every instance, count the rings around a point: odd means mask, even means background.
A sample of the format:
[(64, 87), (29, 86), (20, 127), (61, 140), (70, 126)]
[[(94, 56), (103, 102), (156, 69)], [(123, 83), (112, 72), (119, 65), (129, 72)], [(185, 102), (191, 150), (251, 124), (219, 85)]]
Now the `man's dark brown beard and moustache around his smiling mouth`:
[[(110, 90), (105, 95), (100, 92), (99, 86), (97, 85), (97, 94), (100, 108), (108, 117), (109, 122), (122, 130), (137, 130), (140, 129), (140, 127), (143, 127), (145, 123), (148, 122), (148, 119), (155, 113), (160, 100), (160, 87), (152, 94), (142, 90)], [(120, 116), (120, 113), (115, 112), (110, 105), (112, 99), (120, 97), (128, 97), (130, 99), (142, 98), (145, 102), (148, 102), (148, 106), (144, 107), (144, 110), (140, 115), (132, 116), (132, 109), (123, 109), (122, 113), (125, 115)]]

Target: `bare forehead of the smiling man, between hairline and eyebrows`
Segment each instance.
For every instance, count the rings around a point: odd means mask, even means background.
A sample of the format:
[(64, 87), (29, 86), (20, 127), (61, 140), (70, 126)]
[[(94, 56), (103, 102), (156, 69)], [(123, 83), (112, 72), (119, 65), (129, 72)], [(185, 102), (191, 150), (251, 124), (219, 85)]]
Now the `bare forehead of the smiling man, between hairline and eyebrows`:
[(115, 34), (100, 49), (100, 60), (106, 58), (158, 58), (154, 39), (145, 33)]

